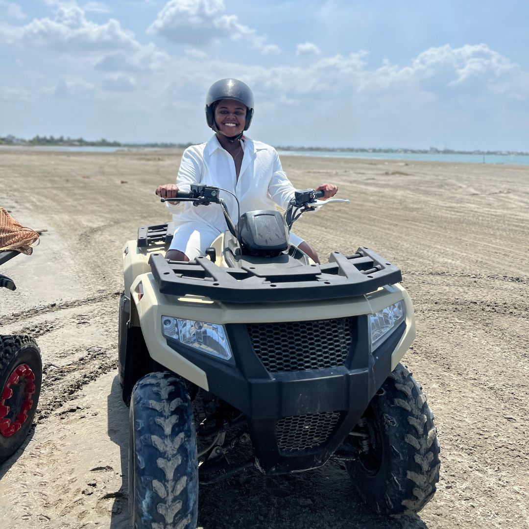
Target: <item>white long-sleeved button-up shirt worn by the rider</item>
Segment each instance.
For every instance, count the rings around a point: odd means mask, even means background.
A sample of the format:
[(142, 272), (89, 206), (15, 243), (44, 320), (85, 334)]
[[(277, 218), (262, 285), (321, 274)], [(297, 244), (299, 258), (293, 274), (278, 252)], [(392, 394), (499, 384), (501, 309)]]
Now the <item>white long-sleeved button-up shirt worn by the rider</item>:
[[(189, 191), (190, 184), (217, 186), (231, 191), (240, 204), (240, 214), (257, 209), (276, 209), (276, 204), (286, 209), (294, 198), (294, 186), (281, 168), (276, 150), (266, 143), (245, 138), (241, 142), (243, 158), (239, 179), (235, 163), (229, 152), (222, 148), (217, 137), (207, 143), (191, 145), (182, 155), (177, 185)], [(239, 222), (238, 209), (234, 198), (223, 191), (221, 198), (230, 212), (234, 224)], [(177, 205), (166, 202), (178, 224), (187, 222), (205, 223), (218, 232), (226, 230), (226, 220), (218, 204), (195, 207), (191, 202)]]

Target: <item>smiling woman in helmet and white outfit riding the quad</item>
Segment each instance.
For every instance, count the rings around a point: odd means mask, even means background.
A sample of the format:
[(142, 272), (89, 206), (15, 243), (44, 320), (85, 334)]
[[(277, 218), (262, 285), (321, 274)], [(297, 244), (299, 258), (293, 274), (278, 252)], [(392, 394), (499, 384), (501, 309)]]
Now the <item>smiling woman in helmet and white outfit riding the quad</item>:
[[(209, 88), (206, 95), (206, 121), (215, 135), (200, 145), (191, 145), (182, 155), (176, 184), (158, 186), (156, 194), (162, 198), (177, 197), (178, 190), (189, 190), (190, 184), (207, 184), (231, 191), (239, 199), (223, 193), (232, 218), (257, 209), (286, 209), (294, 197), (294, 186), (281, 168), (276, 150), (270, 145), (253, 141), (243, 132), (248, 130), (253, 117), (253, 94), (250, 88), (236, 79), (221, 79)], [(336, 194), (333, 184), (322, 184), (327, 199)], [(226, 221), (221, 208), (194, 207), (189, 202), (166, 202), (176, 223), (166, 258), (189, 261), (204, 256), (205, 250), (222, 232)], [(303, 239), (290, 233), (291, 244), (304, 251), (315, 262), (320, 262), (316, 251)]]

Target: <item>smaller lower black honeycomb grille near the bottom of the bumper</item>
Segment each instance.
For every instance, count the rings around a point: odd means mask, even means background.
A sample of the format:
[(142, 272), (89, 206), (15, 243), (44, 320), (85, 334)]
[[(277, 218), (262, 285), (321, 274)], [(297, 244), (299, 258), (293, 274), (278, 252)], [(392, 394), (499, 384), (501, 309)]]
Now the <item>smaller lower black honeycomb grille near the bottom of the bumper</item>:
[(283, 417), (276, 423), (279, 453), (295, 454), (322, 446), (340, 421), (340, 412)]

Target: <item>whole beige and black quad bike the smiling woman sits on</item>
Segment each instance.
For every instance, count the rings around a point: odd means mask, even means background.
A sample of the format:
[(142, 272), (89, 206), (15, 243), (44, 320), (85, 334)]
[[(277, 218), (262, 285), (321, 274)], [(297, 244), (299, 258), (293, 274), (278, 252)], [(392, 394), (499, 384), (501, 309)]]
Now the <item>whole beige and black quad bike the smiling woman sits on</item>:
[(400, 270), (366, 247), (318, 265), (288, 244), (302, 213), (349, 201), (296, 191), (284, 216), (244, 213), (235, 226), (223, 191), (178, 194), (223, 209), (228, 231), (206, 257), (166, 260), (167, 224), (140, 227), (123, 250), (132, 526), (194, 529), (199, 482), (331, 457), (377, 513), (417, 512), (435, 492), (440, 449), (421, 386), (399, 363), (415, 337)]

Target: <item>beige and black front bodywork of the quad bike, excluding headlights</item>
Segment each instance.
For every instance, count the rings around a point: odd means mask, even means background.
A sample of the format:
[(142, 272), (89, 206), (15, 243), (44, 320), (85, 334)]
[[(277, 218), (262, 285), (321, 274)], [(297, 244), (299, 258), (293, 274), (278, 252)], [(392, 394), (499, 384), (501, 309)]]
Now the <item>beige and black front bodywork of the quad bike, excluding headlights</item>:
[[(266, 473), (324, 464), (353, 430), (415, 337), (413, 307), (398, 284), (332, 303), (230, 305), (161, 294), (152, 274), (144, 273), (131, 285), (130, 295), (131, 324), (141, 326), (151, 358), (245, 414), (259, 466)], [(368, 315), (401, 299), (406, 321), (371, 351)], [(162, 315), (224, 325), (233, 363), (164, 338)], [(315, 326), (316, 321), (334, 322), (334, 327)], [(297, 337), (288, 332), (293, 324), (305, 325)], [(327, 358), (326, 351), (336, 349), (335, 344), (315, 343), (318, 336), (330, 336), (336, 325), (342, 325), (338, 334), (348, 330), (349, 339), (341, 356)], [(263, 352), (262, 343), (272, 338), (276, 343), (286, 339), (297, 348), (300, 367), (293, 370), (296, 361), (278, 363)], [(309, 352), (311, 345), (314, 350)], [(315, 360), (305, 363), (311, 355), (316, 355)]]

